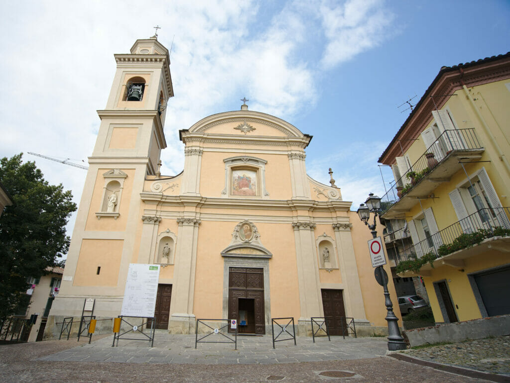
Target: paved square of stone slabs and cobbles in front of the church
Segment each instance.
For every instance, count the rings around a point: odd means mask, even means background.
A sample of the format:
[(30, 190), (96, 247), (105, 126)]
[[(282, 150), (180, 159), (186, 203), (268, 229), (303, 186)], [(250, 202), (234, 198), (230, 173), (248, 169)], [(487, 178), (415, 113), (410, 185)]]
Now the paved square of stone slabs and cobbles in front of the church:
[[(127, 340), (111, 347), (113, 337), (98, 338), (91, 345), (75, 339), (0, 345), (0, 381), (484, 381), (389, 358), (385, 338), (332, 337), (315, 344), (297, 338), (297, 346), (281, 342), (274, 351), (267, 336), (239, 337), (237, 351), (230, 344), (207, 343), (195, 350), (194, 336), (158, 334), (154, 348)], [(252, 361), (265, 360), (264, 354), (272, 362)], [(305, 357), (315, 361), (298, 360)]]

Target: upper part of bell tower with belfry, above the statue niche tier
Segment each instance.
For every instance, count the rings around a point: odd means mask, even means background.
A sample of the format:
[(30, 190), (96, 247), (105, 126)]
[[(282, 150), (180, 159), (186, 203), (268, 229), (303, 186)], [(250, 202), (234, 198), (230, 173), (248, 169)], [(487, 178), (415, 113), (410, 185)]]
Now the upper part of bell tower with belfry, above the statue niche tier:
[(156, 36), (139, 39), (127, 54), (115, 54), (117, 70), (105, 110), (97, 111), (101, 126), (90, 159), (147, 159), (155, 174), (166, 148), (163, 126), (173, 96), (168, 50)]

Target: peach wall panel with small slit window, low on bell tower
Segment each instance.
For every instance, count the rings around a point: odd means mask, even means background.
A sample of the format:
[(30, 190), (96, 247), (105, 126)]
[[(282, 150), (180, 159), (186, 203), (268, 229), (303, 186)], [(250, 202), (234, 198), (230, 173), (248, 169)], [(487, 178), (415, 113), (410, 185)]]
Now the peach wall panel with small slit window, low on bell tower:
[(122, 239), (83, 239), (73, 286), (117, 286), (123, 244)]

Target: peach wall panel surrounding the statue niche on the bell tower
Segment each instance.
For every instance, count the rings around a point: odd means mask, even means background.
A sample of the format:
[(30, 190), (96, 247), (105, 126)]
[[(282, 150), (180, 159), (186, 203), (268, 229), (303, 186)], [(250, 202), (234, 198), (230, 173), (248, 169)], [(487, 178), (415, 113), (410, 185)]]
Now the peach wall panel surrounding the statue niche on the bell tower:
[(103, 188), (105, 186), (105, 178), (103, 174), (110, 169), (98, 169), (95, 179), (94, 191), (92, 193), (91, 208), (87, 217), (85, 230), (98, 230), (98, 231), (123, 231), (127, 224), (127, 213), (129, 212), (131, 193), (133, 190), (133, 180), (135, 176), (134, 169), (121, 169), (127, 174), (124, 180), (124, 187), (122, 196), (120, 198), (120, 205), (118, 207), (119, 217), (114, 220), (113, 217), (101, 217), (97, 219), (95, 213), (101, 211), (101, 203), (103, 202)]

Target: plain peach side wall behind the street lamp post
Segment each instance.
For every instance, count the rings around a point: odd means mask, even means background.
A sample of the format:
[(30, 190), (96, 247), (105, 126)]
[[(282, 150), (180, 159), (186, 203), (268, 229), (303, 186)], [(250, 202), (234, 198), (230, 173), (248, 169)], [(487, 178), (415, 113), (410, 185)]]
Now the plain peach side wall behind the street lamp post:
[[(358, 275), (360, 277), (363, 303), (365, 304), (365, 313), (367, 315), (367, 319), (372, 323), (372, 325), (386, 327), (388, 322), (385, 320), (386, 305), (384, 290), (375, 280), (374, 268), (372, 267), (370, 254), (368, 253), (367, 241), (372, 239), (372, 234), (370, 233), (370, 230), (368, 230), (367, 226), (361, 222), (356, 212), (350, 211), (349, 215), (350, 223), (352, 224), (352, 244), (354, 247), (354, 254), (356, 256), (356, 264), (358, 266)], [(377, 229), (378, 235), (382, 233), (382, 225), (380, 225), (379, 222), (377, 223)], [(382, 248), (385, 249), (384, 246)], [(385, 255), (388, 260), (388, 255), (386, 253)], [(390, 265), (386, 264), (384, 269), (389, 277), (388, 290), (393, 303), (393, 312), (399, 319), (399, 326), (402, 326), (402, 316), (398, 309), (397, 294), (395, 293), (395, 286), (393, 284), (393, 279), (391, 278)]]

